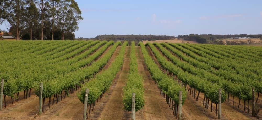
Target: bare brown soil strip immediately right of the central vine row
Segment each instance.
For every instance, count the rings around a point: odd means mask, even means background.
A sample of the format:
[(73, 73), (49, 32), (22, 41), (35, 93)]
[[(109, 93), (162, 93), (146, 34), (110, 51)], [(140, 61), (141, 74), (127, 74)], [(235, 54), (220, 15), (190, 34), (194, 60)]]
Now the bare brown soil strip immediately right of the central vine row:
[(136, 119), (176, 119), (172, 114), (173, 111), (168, 104), (166, 104), (163, 96), (160, 95), (157, 85), (150, 77), (150, 73), (145, 65), (141, 48), (137, 47), (137, 62), (138, 70), (142, 76), (145, 88), (144, 98), (145, 105), (143, 109), (136, 113)]

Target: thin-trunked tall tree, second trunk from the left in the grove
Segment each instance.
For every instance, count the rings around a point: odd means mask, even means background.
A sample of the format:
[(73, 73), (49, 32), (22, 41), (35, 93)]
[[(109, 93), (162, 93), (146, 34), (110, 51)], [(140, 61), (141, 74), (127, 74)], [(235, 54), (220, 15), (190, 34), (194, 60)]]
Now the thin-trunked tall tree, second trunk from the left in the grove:
[(33, 0), (27, 1), (28, 7), (26, 7), (26, 23), (30, 29), (30, 40), (32, 40), (32, 29), (39, 23), (39, 11)]

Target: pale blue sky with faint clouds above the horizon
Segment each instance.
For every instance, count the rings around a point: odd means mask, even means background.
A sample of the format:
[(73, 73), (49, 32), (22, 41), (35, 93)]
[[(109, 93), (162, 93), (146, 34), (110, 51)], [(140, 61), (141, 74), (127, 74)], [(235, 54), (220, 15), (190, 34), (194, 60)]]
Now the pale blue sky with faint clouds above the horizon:
[(262, 34), (261, 0), (75, 1), (84, 17), (76, 38), (104, 34)]

